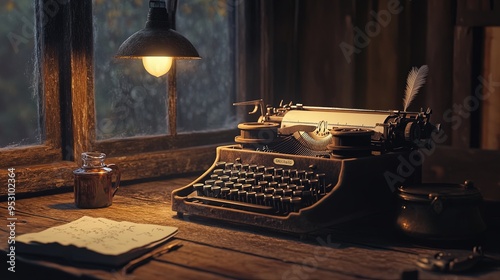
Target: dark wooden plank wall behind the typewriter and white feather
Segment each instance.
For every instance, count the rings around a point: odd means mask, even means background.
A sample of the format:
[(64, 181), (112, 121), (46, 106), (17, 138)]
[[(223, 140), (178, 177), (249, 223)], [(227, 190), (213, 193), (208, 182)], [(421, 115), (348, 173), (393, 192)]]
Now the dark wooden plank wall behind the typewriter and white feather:
[(409, 70), (427, 64), (410, 110), (432, 108), (445, 144), (480, 147), (481, 108), (455, 105), (480, 84), (483, 26), (500, 25), (500, 1), (294, 0), (273, 1), (268, 12), (268, 104), (402, 109)]

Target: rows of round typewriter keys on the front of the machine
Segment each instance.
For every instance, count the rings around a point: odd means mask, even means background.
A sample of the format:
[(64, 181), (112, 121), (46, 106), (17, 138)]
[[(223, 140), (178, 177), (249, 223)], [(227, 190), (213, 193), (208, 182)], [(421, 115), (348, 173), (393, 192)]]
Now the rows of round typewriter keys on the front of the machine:
[(217, 162), (192, 184), (190, 202), (270, 215), (298, 212), (324, 197), (333, 184), (314, 166), (308, 170), (233, 162)]

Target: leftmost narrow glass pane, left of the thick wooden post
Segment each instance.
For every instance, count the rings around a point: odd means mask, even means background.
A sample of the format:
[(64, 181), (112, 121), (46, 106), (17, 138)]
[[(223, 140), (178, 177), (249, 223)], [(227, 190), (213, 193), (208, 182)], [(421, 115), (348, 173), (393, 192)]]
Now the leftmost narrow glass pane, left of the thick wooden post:
[(40, 144), (33, 1), (1, 1), (0, 18), (0, 148)]

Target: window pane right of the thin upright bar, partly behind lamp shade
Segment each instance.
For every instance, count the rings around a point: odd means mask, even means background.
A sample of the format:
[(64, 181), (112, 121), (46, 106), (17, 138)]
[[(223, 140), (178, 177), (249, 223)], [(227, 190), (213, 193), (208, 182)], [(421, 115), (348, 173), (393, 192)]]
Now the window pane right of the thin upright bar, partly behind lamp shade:
[(177, 30), (202, 57), (177, 61), (179, 132), (236, 127), (233, 13), (239, 2), (179, 1)]

